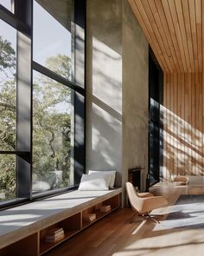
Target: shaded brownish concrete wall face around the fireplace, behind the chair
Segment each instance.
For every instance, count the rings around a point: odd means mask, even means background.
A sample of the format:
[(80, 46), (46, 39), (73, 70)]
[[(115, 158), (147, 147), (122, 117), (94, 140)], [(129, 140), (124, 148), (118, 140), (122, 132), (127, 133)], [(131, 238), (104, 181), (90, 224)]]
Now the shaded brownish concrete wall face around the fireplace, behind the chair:
[(148, 170), (149, 46), (128, 1), (123, 1), (123, 185), (128, 169)]

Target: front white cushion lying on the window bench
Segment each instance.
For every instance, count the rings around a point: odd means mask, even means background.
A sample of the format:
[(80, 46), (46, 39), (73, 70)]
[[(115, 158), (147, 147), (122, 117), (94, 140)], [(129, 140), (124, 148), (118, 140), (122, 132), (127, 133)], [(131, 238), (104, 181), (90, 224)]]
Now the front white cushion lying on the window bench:
[(111, 175), (83, 174), (79, 190), (109, 190)]

